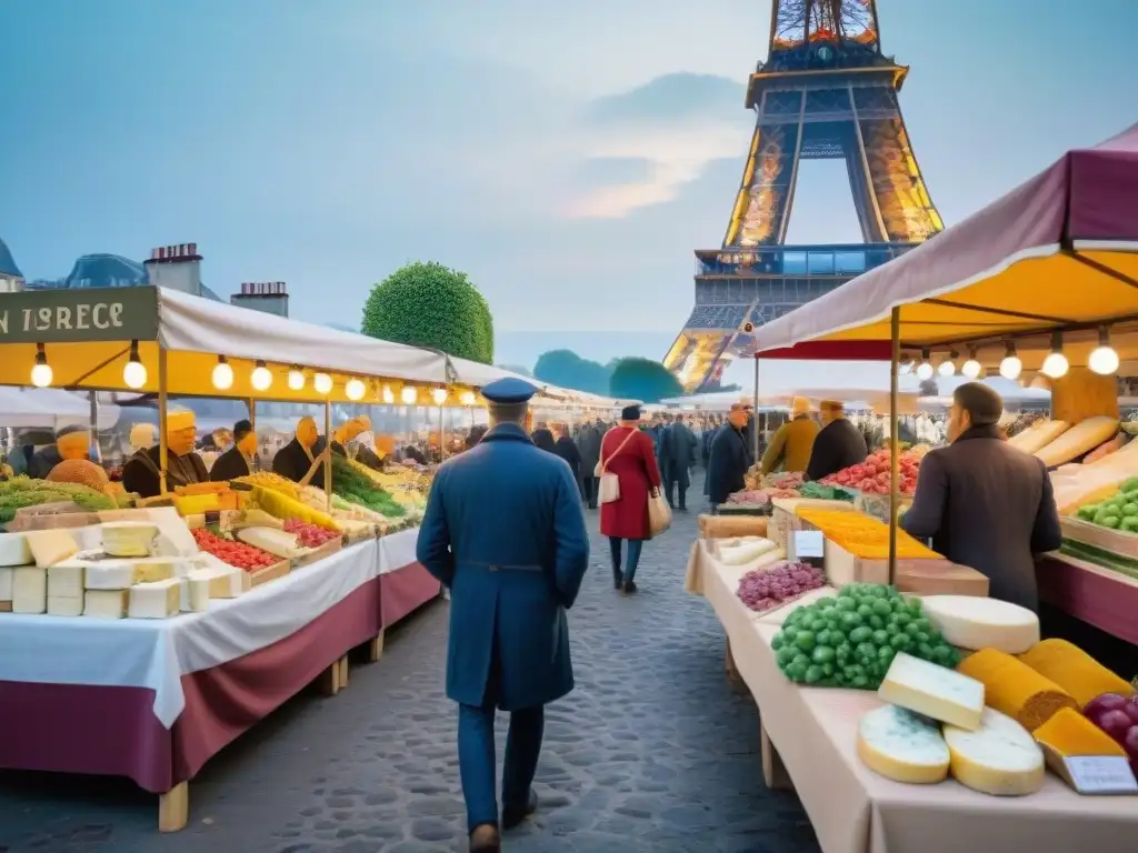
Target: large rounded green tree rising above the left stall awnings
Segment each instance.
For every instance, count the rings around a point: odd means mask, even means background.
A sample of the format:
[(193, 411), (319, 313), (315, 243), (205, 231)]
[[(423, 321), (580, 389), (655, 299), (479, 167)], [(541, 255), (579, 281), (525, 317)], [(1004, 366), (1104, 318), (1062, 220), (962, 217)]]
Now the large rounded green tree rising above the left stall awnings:
[(465, 273), (434, 260), (396, 270), (371, 289), (361, 331), (372, 338), (494, 361), (489, 306)]

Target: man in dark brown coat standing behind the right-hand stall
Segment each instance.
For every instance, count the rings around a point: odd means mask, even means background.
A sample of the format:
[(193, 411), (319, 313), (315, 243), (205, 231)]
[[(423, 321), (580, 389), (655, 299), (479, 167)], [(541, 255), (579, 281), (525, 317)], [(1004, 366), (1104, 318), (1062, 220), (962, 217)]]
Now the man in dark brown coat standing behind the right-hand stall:
[(982, 572), (992, 598), (1038, 610), (1036, 554), (1063, 544), (1047, 466), (1007, 445), (997, 426), (1004, 403), (968, 382), (953, 392), (951, 444), (921, 462), (901, 527), (954, 563)]

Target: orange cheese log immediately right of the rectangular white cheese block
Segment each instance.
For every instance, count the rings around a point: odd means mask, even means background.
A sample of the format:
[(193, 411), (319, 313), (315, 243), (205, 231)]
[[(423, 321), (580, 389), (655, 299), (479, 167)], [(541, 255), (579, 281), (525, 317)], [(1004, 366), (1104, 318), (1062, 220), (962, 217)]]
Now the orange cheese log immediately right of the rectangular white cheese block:
[(1034, 731), (1063, 707), (1078, 710), (1074, 698), (1028, 664), (995, 648), (965, 657), (957, 672), (984, 686), (984, 701), (1028, 731)]

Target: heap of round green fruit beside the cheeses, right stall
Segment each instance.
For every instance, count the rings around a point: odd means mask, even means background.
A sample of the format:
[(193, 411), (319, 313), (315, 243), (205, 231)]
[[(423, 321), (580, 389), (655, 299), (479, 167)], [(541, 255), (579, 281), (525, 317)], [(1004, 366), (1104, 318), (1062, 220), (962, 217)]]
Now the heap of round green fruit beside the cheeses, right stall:
[(872, 583), (851, 583), (794, 610), (772, 648), (791, 681), (863, 690), (881, 686), (898, 652), (941, 666), (959, 660), (925, 618), (920, 598)]

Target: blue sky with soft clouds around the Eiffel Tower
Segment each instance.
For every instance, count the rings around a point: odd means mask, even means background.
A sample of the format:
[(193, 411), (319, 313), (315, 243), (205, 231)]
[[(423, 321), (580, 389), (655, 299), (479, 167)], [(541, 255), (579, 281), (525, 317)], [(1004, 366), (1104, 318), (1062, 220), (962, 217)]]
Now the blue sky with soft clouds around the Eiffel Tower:
[[(30, 276), (197, 241), (214, 290), (284, 280), (294, 316), (351, 324), (372, 282), (437, 259), (471, 274), (502, 340), (591, 330), (608, 343), (576, 339), (602, 357), (628, 332), (659, 357), (692, 304), (692, 249), (723, 238), (769, 8), (3, 3), (0, 235)], [(1138, 121), (1135, 0), (879, 15), (949, 224)], [(806, 165), (790, 240), (856, 241), (843, 166)]]

